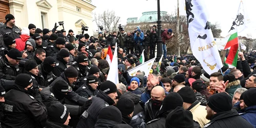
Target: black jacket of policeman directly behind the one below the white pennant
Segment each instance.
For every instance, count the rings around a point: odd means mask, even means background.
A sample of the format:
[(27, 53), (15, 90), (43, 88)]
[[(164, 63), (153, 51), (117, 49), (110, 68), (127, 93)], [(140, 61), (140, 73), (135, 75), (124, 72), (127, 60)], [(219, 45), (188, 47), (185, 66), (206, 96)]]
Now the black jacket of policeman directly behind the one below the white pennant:
[(98, 90), (93, 90), (90, 85), (88, 85), (87, 82), (85, 82), (80, 88), (76, 90), (76, 93), (79, 96), (85, 97), (85, 98), (90, 98), (93, 97), (97, 94)]

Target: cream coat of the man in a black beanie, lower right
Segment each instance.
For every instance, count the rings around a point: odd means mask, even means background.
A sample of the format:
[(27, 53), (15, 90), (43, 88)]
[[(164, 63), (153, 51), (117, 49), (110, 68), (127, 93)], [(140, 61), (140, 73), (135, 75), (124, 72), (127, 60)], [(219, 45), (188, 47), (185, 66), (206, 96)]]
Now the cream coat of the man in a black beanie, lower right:
[(201, 127), (209, 122), (205, 117), (207, 112), (205, 110), (206, 106), (200, 105), (201, 102), (196, 100), (187, 110), (189, 110), (193, 115), (193, 120), (197, 121)]

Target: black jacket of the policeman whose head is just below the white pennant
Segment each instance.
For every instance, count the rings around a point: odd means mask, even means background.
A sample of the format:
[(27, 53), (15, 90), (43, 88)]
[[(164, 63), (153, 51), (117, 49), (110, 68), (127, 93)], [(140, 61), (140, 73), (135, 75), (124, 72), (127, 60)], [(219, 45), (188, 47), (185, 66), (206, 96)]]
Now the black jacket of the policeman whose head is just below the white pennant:
[(92, 98), (92, 104), (89, 106), (88, 110), (82, 113), (76, 127), (94, 127), (99, 111), (105, 106), (113, 105), (114, 103), (115, 101), (113, 99), (102, 91), (99, 91), (97, 95)]

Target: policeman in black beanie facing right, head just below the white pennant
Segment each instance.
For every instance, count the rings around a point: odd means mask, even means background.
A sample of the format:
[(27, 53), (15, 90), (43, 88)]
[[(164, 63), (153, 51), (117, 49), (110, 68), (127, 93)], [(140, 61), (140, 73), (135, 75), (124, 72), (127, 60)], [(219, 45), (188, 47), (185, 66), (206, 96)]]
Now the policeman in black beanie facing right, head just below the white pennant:
[(108, 105), (113, 105), (117, 97), (116, 84), (106, 80), (101, 84), (100, 90), (96, 96), (92, 98), (92, 104), (88, 110), (84, 111), (77, 124), (77, 128), (93, 127), (97, 121), (99, 111)]

